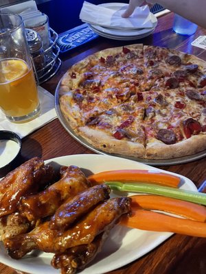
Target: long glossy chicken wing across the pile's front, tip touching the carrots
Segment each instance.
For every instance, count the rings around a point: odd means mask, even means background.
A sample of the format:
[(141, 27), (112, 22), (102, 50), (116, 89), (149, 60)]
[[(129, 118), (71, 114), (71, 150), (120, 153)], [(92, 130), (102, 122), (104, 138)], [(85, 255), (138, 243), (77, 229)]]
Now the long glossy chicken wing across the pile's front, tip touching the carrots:
[(104, 201), (74, 223), (66, 232), (52, 230), (49, 221), (38, 225), (32, 232), (4, 240), (5, 249), (14, 259), (22, 258), (32, 249), (63, 253), (66, 249), (91, 243), (95, 236), (111, 229), (122, 214), (130, 211), (130, 198), (117, 197)]

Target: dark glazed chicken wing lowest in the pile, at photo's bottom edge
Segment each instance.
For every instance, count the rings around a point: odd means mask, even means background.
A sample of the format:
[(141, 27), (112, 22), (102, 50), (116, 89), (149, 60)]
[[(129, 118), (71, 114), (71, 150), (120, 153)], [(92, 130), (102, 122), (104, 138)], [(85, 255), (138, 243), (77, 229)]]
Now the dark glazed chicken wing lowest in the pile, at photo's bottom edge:
[(55, 269), (61, 269), (62, 274), (75, 274), (76, 271), (84, 269), (102, 250), (106, 238), (108, 238), (108, 230), (96, 236), (88, 245), (78, 245), (67, 249), (64, 253), (56, 253), (51, 264)]

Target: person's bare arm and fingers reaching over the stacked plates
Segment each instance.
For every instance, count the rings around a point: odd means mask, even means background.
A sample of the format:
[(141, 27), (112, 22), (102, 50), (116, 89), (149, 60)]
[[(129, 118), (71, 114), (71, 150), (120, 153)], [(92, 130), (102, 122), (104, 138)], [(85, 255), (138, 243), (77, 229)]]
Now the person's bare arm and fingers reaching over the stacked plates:
[[(148, 0), (149, 3), (159, 3), (164, 8), (187, 18), (188, 20), (206, 28), (206, 1), (205, 0)], [(135, 5), (136, 3), (136, 5)], [(139, 0), (130, 0), (128, 10), (124, 12), (124, 17), (133, 13), (133, 7), (139, 5)], [(126, 14), (126, 16), (125, 16)], [(129, 14), (129, 15), (128, 15)]]

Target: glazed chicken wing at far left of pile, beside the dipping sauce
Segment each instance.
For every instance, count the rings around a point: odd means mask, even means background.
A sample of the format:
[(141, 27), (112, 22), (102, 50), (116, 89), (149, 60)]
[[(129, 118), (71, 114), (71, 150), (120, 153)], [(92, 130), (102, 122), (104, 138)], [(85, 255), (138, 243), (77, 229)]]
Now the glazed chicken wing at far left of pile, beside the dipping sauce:
[(0, 184), (0, 217), (16, 212), (23, 195), (36, 192), (53, 179), (54, 169), (40, 158), (32, 158), (6, 175)]

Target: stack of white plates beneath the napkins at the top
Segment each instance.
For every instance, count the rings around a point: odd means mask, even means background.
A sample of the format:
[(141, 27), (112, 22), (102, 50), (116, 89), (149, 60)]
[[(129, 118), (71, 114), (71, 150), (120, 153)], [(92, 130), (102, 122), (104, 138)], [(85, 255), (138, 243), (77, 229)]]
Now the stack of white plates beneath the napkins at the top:
[[(122, 8), (125, 3), (104, 3), (100, 5), (102, 5), (104, 8), (119, 10), (119, 8)], [(112, 29), (109, 27), (101, 27), (100, 25), (88, 25), (91, 27), (93, 32), (106, 38), (114, 40), (137, 40), (152, 34), (152, 32), (155, 30), (155, 27), (157, 27), (156, 16), (150, 12), (150, 17), (153, 27), (143, 29)]]

